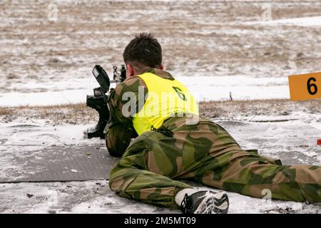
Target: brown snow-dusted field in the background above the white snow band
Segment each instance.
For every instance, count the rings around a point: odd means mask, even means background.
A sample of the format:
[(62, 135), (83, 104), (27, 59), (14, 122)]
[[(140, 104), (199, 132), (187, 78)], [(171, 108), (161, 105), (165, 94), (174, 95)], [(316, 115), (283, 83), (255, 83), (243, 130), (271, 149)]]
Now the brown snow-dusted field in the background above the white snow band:
[[(268, 2), (270, 3), (270, 2)], [(317, 26), (262, 21), (265, 1), (50, 1), (0, 4), (0, 92), (44, 92), (53, 83), (86, 78), (96, 63), (111, 71), (128, 41), (156, 34), (168, 70), (180, 75), (288, 76), (320, 70)], [(271, 19), (320, 16), (321, 1), (272, 1)], [(68, 88), (77, 88), (76, 83)]]

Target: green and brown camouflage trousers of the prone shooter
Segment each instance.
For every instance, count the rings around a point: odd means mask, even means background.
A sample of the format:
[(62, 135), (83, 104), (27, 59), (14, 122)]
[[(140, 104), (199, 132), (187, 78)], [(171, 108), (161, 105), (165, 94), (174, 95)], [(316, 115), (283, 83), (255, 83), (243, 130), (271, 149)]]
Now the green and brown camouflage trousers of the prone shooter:
[[(168, 134), (172, 132), (173, 135)], [(240, 148), (220, 125), (200, 118), (170, 118), (158, 131), (138, 136), (110, 172), (109, 186), (121, 197), (178, 207), (175, 194), (193, 180), (230, 192), (262, 198), (321, 202), (321, 167), (281, 165)]]

